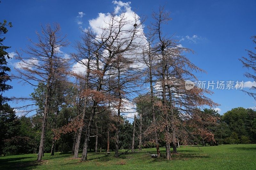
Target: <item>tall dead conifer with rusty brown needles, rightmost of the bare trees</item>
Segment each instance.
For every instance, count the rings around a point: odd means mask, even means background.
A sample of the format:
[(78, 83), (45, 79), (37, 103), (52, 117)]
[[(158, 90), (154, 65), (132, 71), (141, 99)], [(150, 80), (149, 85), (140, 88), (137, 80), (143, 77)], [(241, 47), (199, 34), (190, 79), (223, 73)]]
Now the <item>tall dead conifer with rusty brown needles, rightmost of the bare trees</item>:
[(154, 53), (158, 58), (154, 70), (159, 85), (158, 94), (156, 95), (161, 96), (163, 118), (161, 129), (164, 129), (166, 159), (169, 160), (171, 159), (171, 142), (173, 143), (173, 152), (177, 152), (176, 130), (178, 120), (188, 119), (191, 115), (199, 114), (198, 107), (214, 107), (217, 104), (204, 95), (204, 93), (211, 93), (205, 89), (185, 89), (185, 80), (197, 80), (192, 72), (204, 72), (204, 70), (196, 67), (184, 55), (185, 52), (191, 52), (192, 50), (182, 47), (178, 40), (163, 35), (162, 24), (171, 20), (169, 13), (164, 12), (164, 8), (160, 7), (159, 13), (153, 12), (152, 16), (155, 20), (153, 29), (158, 37), (154, 46)]

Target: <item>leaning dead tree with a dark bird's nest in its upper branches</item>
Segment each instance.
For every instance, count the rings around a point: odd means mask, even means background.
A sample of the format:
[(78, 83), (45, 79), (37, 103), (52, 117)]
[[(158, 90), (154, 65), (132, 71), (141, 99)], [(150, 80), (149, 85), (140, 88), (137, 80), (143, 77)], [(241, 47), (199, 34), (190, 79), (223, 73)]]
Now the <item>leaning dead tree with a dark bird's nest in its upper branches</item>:
[[(92, 110), (85, 134), (82, 161), (87, 160), (88, 139), (90, 138), (92, 120), (97, 105), (99, 102), (102, 102), (104, 98), (103, 96), (106, 94), (106, 92), (102, 90), (106, 85), (104, 83), (106, 80), (106, 71), (111, 69), (113, 59), (116, 56), (123, 54), (126, 51), (131, 51), (134, 48), (133, 42), (138, 37), (138, 33), (141, 32), (141, 22), (139, 23), (138, 20), (139, 18), (136, 14), (134, 14), (133, 19), (128, 19), (125, 14), (121, 14), (120, 16), (110, 15), (109, 21), (106, 23), (107, 26), (100, 28), (101, 33), (98, 33), (95, 36), (90, 34), (91, 40), (95, 43), (97, 49), (94, 52), (97, 71), (95, 71), (96, 76), (94, 81), (94, 94), (92, 95)], [(126, 29), (125, 26), (128, 26), (129, 28)], [(118, 116), (120, 115), (118, 114)], [(118, 156), (118, 150), (116, 156)]]

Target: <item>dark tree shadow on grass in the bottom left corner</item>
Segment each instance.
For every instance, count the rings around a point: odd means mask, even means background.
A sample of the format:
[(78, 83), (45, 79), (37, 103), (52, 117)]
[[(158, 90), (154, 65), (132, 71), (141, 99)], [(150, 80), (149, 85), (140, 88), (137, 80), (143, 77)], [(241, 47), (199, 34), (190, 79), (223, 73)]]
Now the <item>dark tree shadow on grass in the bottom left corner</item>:
[[(24, 161), (23, 159), (29, 159), (34, 157), (19, 157), (19, 158), (6, 158), (0, 159), (0, 167), (2, 169), (32, 169), (40, 165), (41, 162), (36, 161)], [(14, 162), (15, 161), (15, 162)]]

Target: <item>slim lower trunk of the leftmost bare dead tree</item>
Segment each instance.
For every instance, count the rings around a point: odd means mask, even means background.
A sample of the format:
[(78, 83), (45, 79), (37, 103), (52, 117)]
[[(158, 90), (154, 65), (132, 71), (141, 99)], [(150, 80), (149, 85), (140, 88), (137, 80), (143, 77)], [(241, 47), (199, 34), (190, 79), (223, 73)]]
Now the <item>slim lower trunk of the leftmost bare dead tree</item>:
[(44, 118), (42, 122), (42, 132), (41, 132), (41, 139), (40, 139), (40, 145), (39, 145), (39, 151), (38, 151), (38, 157), (37, 161), (41, 161), (43, 154), (44, 154), (44, 140), (45, 140), (45, 131), (46, 131), (46, 119), (48, 114), (48, 97), (49, 97), (49, 87), (47, 87), (47, 93), (45, 96), (45, 102), (44, 102)]

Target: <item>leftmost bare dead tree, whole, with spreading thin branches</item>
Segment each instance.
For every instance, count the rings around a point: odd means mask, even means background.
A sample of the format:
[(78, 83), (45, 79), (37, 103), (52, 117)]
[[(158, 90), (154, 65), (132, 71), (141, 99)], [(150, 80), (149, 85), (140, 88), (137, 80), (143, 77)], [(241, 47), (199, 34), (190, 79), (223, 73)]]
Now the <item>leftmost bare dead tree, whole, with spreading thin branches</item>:
[[(66, 35), (60, 34), (60, 25), (54, 24), (51, 27), (49, 24), (46, 27), (42, 26), (42, 33), (38, 33), (38, 42), (33, 42), (32, 46), (28, 46), (28, 50), (23, 50), (26, 56), (22, 56), (17, 51), (17, 60), (20, 60), (19, 68), (16, 68), (17, 75), (13, 78), (19, 79), (25, 84), (45, 88), (44, 96), (44, 117), (42, 121), (41, 140), (38, 152), (37, 161), (42, 160), (44, 153), (44, 138), (46, 131), (47, 114), (49, 112), (49, 103), (52, 98), (53, 83), (57, 78), (65, 78), (65, 71), (69, 66), (69, 59), (61, 55), (60, 48), (66, 47), (69, 43), (66, 40)], [(23, 98), (25, 100), (34, 100), (32, 98)], [(24, 106), (25, 107), (25, 106)], [(28, 106), (26, 106), (28, 107)]]

